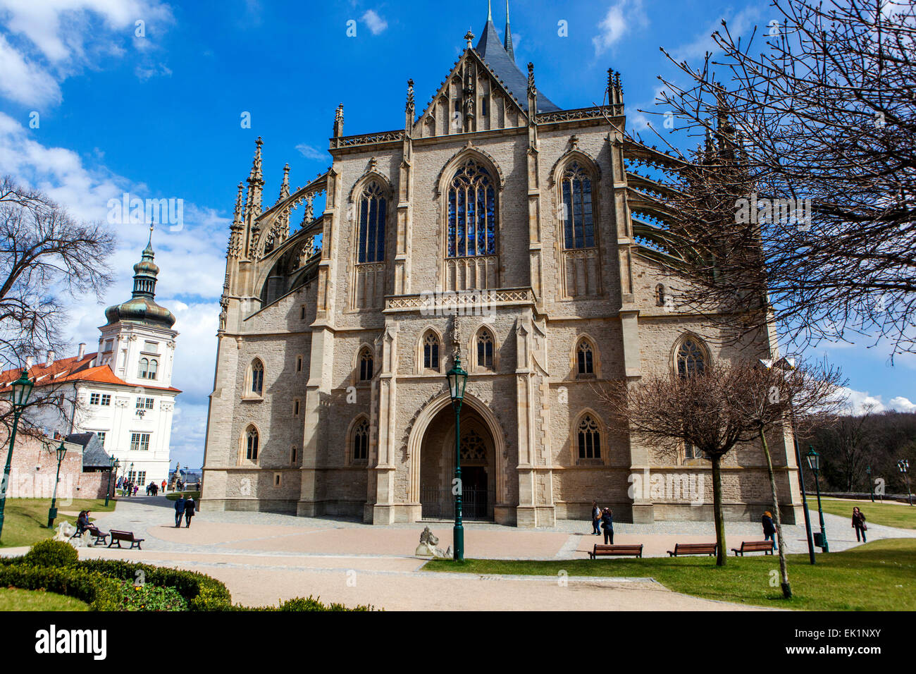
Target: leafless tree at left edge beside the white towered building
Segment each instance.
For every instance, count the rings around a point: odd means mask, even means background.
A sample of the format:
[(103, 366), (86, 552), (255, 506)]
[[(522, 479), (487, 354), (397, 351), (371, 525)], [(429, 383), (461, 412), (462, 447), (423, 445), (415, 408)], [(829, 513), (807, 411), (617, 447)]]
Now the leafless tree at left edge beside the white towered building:
[[(60, 352), (67, 299), (101, 300), (112, 277), (107, 259), (114, 235), (101, 224), (77, 222), (48, 195), (28, 190), (6, 176), (0, 181), (0, 370), (24, 368), (28, 357)], [(5, 377), (3, 385), (18, 378)], [(64, 418), (73, 401), (52, 382), (41, 385), (29, 406), (56, 407)], [(23, 415), (27, 424), (28, 414)], [(12, 409), (0, 408), (0, 424)]]

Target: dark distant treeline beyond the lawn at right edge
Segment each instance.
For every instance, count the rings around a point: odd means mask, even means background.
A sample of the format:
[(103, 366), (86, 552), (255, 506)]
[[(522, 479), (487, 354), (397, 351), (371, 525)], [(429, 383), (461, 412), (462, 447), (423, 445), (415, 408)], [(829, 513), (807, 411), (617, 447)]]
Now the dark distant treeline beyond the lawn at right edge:
[[(799, 433), (805, 486), (813, 490), (813, 474), (804, 454), (809, 445), (821, 455), (821, 490), (868, 492), (872, 483), (884, 480), (886, 493), (906, 493), (906, 481), (897, 467), (900, 459), (916, 470), (916, 414), (882, 412), (859, 416), (836, 416)], [(911, 489), (913, 476), (910, 476)]]

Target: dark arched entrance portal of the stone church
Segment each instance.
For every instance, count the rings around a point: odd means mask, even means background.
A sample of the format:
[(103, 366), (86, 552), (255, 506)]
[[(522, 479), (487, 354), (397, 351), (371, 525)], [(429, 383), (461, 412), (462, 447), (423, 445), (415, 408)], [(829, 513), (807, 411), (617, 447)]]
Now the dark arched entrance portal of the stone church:
[[(455, 468), (455, 419), (451, 404), (427, 426), (420, 446), (420, 510), (424, 518), (452, 519)], [(461, 414), (463, 517), (492, 520), (496, 487), (493, 436), (470, 405)]]

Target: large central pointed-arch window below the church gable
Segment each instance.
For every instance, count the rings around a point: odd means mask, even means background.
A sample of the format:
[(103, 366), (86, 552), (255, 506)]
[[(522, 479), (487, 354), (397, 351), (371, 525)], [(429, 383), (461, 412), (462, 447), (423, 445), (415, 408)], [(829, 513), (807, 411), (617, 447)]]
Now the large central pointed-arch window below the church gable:
[(493, 179), (475, 160), (455, 171), (448, 192), (448, 257), (496, 255), (496, 192)]

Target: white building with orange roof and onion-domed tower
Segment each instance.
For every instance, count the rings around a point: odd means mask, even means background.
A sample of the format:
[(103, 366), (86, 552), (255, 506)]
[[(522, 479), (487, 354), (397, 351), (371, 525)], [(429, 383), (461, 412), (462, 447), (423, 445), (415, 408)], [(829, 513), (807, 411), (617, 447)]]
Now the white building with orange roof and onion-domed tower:
[[(97, 353), (85, 353), (81, 344), (76, 357), (55, 360), (49, 351), (45, 363), (28, 368), (37, 390), (54, 385), (76, 400), (71, 420), (55, 409), (35, 423), (49, 435), (95, 433), (120, 461), (118, 475), (141, 485), (169, 477), (172, 413), (180, 393), (171, 385), (175, 316), (153, 299), (159, 271), (153, 257), (150, 242), (134, 265), (133, 296), (105, 310)], [(15, 379), (19, 371), (5, 372), (2, 379)]]

